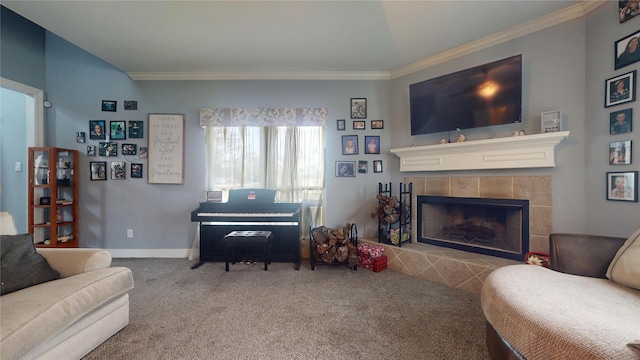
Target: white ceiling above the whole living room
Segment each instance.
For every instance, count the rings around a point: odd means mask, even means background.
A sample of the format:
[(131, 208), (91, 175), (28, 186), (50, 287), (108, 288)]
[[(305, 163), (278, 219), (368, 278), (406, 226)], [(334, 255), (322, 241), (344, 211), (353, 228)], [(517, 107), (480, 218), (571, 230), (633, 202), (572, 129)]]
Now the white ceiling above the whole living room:
[[(604, 0), (2, 1), (134, 79), (393, 78)], [(479, 44), (479, 45), (478, 45)]]

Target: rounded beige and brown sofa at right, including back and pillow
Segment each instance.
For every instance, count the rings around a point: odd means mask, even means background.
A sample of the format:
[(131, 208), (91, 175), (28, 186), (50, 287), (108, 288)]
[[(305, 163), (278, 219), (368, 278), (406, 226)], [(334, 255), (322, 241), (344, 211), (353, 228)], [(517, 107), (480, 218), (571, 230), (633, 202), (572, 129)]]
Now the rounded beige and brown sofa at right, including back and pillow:
[(482, 287), (492, 359), (640, 359), (640, 229), (552, 234), (551, 269), (511, 265)]

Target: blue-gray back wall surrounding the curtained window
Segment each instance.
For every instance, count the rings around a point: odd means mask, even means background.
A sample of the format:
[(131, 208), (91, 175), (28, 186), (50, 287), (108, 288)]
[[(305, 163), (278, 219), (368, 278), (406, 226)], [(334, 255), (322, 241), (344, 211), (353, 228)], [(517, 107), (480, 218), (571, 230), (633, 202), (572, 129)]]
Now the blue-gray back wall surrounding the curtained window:
[[(75, 148), (80, 157), (80, 243), (112, 249), (188, 248), (195, 232), (190, 212), (204, 190), (204, 130), (199, 125), (201, 107), (326, 107), (327, 125), (327, 226), (355, 222), (361, 235), (375, 236), (370, 212), (375, 206), (378, 182), (389, 181), (382, 174), (358, 174), (336, 178), (335, 161), (382, 159), (388, 154), (389, 128), (354, 131), (336, 130), (336, 119), (349, 116), (349, 99), (368, 99), (369, 119), (389, 121), (389, 81), (131, 81), (124, 73), (67, 41), (47, 35), (47, 90), (53, 107), (48, 117), (47, 137), (60, 147)], [(118, 111), (102, 112), (102, 99), (117, 100)], [(122, 110), (123, 100), (137, 100), (137, 111)], [(90, 181), (90, 161), (126, 160), (88, 158), (88, 140), (78, 144), (77, 131), (89, 131), (89, 120), (145, 120), (148, 113), (180, 113), (186, 119), (185, 181), (183, 185), (147, 184), (146, 179)], [(367, 128), (369, 128), (367, 120)], [(343, 156), (341, 135), (381, 136), (381, 152), (387, 154)], [(146, 145), (144, 141), (132, 141)], [(145, 163), (145, 161), (142, 161)], [(126, 238), (126, 229), (134, 238)]]

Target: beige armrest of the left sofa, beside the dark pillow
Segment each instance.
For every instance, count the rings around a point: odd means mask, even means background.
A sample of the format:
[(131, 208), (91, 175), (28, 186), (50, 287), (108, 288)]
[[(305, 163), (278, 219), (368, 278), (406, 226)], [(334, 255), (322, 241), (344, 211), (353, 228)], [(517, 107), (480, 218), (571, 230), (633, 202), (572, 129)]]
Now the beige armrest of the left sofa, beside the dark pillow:
[(36, 251), (62, 278), (111, 266), (111, 253), (104, 249), (38, 248)]

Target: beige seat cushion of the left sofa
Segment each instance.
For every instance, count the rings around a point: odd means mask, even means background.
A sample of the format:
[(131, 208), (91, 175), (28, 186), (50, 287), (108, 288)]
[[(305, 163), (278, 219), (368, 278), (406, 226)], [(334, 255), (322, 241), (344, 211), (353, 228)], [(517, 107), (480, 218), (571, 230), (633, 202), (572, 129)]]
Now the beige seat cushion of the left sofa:
[(21, 358), (132, 288), (131, 270), (111, 267), (3, 296), (0, 358)]

